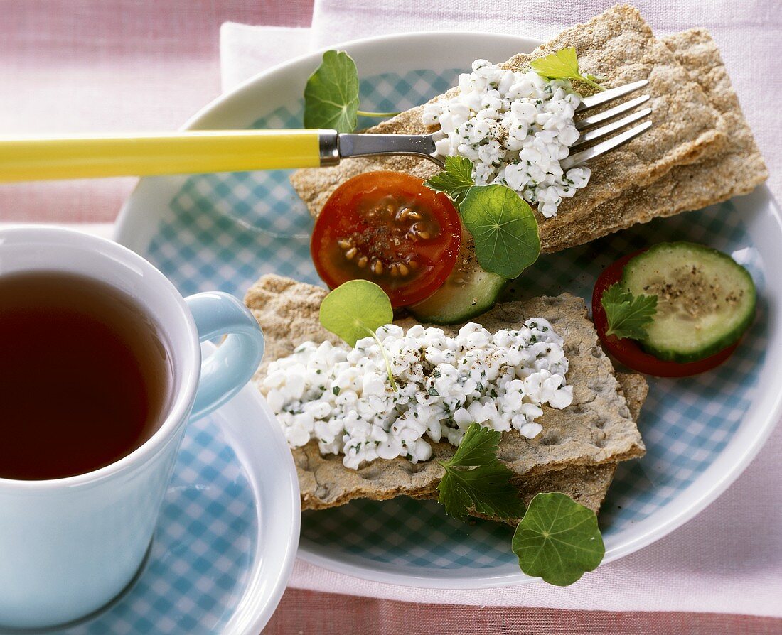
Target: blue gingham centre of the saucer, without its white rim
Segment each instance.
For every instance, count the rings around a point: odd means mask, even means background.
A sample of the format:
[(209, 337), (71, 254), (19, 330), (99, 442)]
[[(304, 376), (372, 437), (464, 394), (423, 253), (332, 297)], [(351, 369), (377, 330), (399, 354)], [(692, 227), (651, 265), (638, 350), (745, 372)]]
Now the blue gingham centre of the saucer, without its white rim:
[(245, 592), (256, 551), (252, 487), (210, 419), (188, 424), (142, 575), (61, 635), (213, 635)]

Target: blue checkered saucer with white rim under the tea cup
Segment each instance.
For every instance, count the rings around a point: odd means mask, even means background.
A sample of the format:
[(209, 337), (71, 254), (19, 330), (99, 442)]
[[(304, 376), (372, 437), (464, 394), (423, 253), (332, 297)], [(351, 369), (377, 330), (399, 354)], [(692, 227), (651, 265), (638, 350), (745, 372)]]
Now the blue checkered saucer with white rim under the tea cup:
[[(203, 344), (203, 355), (213, 351)], [(299, 538), (296, 469), (253, 387), (188, 423), (152, 548), (111, 605), (57, 635), (258, 635)]]

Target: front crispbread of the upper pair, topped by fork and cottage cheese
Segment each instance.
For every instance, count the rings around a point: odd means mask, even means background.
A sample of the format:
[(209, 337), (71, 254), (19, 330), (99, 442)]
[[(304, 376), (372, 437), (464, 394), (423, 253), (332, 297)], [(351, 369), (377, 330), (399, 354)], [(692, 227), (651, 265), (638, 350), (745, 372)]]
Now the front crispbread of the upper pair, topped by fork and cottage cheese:
[[(714, 154), (725, 143), (718, 130), (720, 116), (705, 92), (676, 61), (670, 49), (658, 41), (637, 9), (617, 5), (586, 24), (565, 30), (547, 45), (530, 55), (516, 55), (504, 66), (519, 70), (531, 59), (553, 50), (573, 46), (580, 65), (590, 73), (604, 76), (608, 86), (631, 81), (650, 81), (651, 130), (608, 155), (590, 162), (590, 184), (573, 198), (565, 198), (558, 216), (544, 219), (537, 214), (540, 241), (544, 252), (569, 246), (558, 227), (565, 223), (578, 226), (589, 219), (591, 210), (617, 193), (633, 186), (644, 186), (658, 180), (673, 166), (698, 161)], [(391, 120), (372, 127), (368, 132), (389, 134), (422, 134), (427, 132), (421, 121), (422, 106), (407, 110)], [(425, 159), (392, 157), (388, 159), (350, 159), (333, 168), (304, 169), (291, 177), (296, 191), (317, 216), (339, 184), (357, 174), (377, 169), (392, 169), (429, 178), (436, 167)], [(556, 247), (548, 244), (549, 235), (557, 233)], [(600, 227), (582, 234), (569, 235), (572, 244), (581, 244), (603, 235)]]

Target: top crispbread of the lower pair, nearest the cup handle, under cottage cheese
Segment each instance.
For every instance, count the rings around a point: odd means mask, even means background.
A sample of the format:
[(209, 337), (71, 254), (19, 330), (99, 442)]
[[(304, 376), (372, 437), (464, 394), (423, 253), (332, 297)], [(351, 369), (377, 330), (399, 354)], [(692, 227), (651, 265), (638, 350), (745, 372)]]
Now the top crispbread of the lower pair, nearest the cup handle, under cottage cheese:
[[(256, 381), (264, 376), (272, 359), (289, 355), (303, 341), (337, 341), (318, 321), (326, 293), (321, 287), (281, 276), (262, 276), (249, 289), (246, 305), (264, 329), (267, 341), (267, 356)], [(518, 475), (532, 475), (642, 455), (640, 433), (619, 392), (611, 362), (597, 343), (581, 298), (561, 294), (556, 298), (508, 302), (497, 305), (478, 321), (487, 330), (497, 331), (518, 327), (533, 316), (547, 319), (565, 339), (573, 402), (565, 410), (544, 407), (540, 418), (544, 431), (536, 439), (526, 439), (515, 430), (505, 433), (497, 454), (500, 460)], [(408, 318), (397, 323), (407, 328), (415, 322)], [(443, 327), (451, 333), (457, 329)], [(454, 446), (434, 443), (431, 461), (378, 459), (353, 470), (343, 466), (341, 456), (321, 456), (315, 441), (293, 451), (305, 509), (342, 505), (353, 498), (385, 500), (400, 494), (431, 494), (442, 476), (436, 459), (449, 458), (453, 453)]]

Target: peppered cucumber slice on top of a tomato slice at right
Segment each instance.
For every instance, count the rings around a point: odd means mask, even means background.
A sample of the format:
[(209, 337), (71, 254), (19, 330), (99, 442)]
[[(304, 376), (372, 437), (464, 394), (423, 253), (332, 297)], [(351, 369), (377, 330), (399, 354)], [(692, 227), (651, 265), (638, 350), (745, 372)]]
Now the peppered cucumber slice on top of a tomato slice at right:
[(696, 362), (739, 340), (755, 317), (755, 284), (729, 255), (688, 242), (657, 244), (625, 266), (622, 285), (657, 296), (640, 345), (658, 359)]

